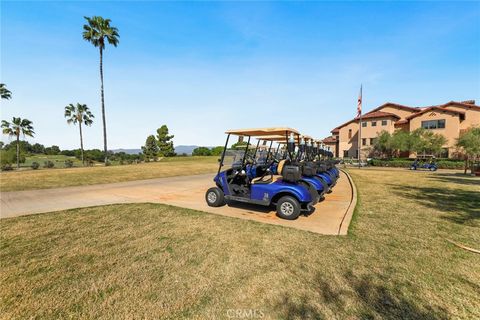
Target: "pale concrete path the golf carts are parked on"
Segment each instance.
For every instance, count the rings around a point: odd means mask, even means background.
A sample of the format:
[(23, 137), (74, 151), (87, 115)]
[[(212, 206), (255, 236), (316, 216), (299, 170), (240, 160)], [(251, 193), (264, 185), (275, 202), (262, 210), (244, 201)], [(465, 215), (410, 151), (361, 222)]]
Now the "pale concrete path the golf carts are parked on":
[(1, 193), (1, 218), (115, 203), (155, 202), (201, 210), (230, 217), (293, 227), (320, 234), (346, 234), (356, 195), (344, 172), (333, 193), (318, 203), (309, 216), (288, 221), (278, 218), (274, 208), (231, 204), (207, 206), (205, 191), (214, 186), (213, 174), (139, 180), (93, 186)]

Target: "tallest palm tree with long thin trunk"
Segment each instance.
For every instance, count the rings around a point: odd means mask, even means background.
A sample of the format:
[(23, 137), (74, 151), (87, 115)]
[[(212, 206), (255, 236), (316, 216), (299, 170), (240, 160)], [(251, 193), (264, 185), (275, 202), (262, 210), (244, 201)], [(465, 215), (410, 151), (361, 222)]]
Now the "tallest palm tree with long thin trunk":
[(93, 16), (91, 18), (84, 17), (88, 24), (83, 25), (83, 39), (100, 49), (100, 94), (102, 100), (102, 120), (103, 120), (103, 148), (105, 151), (105, 165), (107, 165), (107, 123), (105, 120), (105, 98), (103, 94), (103, 50), (105, 44), (116, 47), (119, 43), (118, 29), (110, 26), (110, 19)]

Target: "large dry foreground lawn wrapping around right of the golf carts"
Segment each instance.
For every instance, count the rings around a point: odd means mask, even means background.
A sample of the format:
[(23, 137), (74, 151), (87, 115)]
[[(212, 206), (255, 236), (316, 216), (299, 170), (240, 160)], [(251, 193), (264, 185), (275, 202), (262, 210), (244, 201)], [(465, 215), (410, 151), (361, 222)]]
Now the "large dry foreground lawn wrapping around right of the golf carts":
[(1, 221), (3, 318), (478, 319), (480, 181), (351, 169), (347, 237), (156, 204)]

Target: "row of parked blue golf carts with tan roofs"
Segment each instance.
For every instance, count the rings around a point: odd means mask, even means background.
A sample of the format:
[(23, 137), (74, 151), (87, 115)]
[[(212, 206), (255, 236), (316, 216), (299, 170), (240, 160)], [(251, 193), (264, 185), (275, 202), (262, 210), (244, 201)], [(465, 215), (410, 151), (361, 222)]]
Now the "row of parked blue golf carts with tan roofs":
[[(274, 205), (280, 218), (293, 220), (311, 213), (339, 178), (333, 153), (295, 129), (229, 130), (226, 134), (213, 179), (216, 186), (205, 194), (209, 206), (232, 201)], [(231, 136), (246, 139), (243, 148), (229, 148)]]

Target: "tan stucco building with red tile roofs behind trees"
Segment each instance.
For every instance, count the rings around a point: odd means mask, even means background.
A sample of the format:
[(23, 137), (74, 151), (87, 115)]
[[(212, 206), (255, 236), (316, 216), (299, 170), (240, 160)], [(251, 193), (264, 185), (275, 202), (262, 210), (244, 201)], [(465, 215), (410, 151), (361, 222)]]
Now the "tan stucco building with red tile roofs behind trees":
[[(331, 131), (332, 136), (324, 139), (337, 157), (358, 157), (359, 118), (343, 123)], [(455, 141), (460, 134), (472, 126), (480, 126), (480, 106), (475, 100), (450, 101), (442, 105), (409, 107), (387, 102), (362, 115), (361, 152), (367, 157), (378, 134), (385, 130), (414, 131), (425, 128), (439, 133), (447, 139), (443, 146), (443, 157), (452, 157)]]

